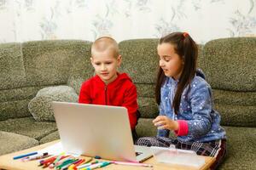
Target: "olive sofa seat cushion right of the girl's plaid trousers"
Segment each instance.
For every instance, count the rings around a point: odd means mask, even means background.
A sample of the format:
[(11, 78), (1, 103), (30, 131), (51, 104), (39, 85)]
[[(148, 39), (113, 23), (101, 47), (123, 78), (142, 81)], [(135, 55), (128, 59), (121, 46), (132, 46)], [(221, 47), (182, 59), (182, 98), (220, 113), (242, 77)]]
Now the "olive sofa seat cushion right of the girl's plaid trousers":
[(219, 169), (256, 169), (256, 128), (224, 127), (227, 156)]

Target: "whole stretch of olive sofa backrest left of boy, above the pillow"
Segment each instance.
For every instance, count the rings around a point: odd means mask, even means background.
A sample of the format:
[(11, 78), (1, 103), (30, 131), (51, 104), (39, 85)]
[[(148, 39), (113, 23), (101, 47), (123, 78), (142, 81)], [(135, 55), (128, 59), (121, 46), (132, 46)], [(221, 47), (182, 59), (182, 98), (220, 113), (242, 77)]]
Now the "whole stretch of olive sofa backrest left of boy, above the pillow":
[[(84, 81), (90, 72), (91, 42), (79, 40), (33, 41), (0, 45), (0, 121), (31, 116), (29, 101), (48, 86), (76, 84), (76, 71)], [(83, 65), (84, 64), (84, 65)], [(84, 79), (83, 79), (84, 78)], [(80, 82), (79, 82), (80, 83)]]

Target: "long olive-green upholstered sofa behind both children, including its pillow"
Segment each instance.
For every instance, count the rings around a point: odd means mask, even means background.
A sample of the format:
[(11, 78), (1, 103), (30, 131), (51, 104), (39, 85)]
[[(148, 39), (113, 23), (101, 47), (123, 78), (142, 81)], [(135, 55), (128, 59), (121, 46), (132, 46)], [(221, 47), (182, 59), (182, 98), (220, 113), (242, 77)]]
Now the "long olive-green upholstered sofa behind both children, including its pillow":
[[(119, 42), (123, 63), (137, 86), (139, 137), (155, 136), (154, 86), (158, 39)], [(0, 155), (59, 139), (51, 101), (77, 102), (93, 76), (89, 41), (0, 44)], [(212, 86), (214, 108), (227, 133), (219, 169), (256, 169), (256, 37), (215, 39), (199, 45), (198, 67)], [(173, 135), (173, 134), (171, 134)]]

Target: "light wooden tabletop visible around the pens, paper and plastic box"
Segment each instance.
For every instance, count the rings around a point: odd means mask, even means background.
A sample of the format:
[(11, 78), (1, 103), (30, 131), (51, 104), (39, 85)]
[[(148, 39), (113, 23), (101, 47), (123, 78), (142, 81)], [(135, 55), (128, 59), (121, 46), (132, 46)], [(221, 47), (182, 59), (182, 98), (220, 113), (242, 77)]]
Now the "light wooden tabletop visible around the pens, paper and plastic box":
[[(38, 161), (20, 161), (20, 160), (14, 160), (13, 157), (14, 156), (19, 156), (25, 153), (29, 153), (32, 151), (37, 151), (37, 150), (42, 150), (45, 147), (51, 145), (51, 144), (55, 144), (56, 142), (58, 142), (59, 140), (53, 141), (53, 142), (49, 142), (47, 144), (41, 144), (35, 147), (32, 147), (30, 149), (27, 150), (21, 150), (21, 151), (17, 151), (8, 155), (3, 155), (0, 156), (0, 169), (12, 169), (12, 170), (20, 170), (20, 169), (33, 169), (33, 170), (43, 170), (42, 167), (38, 167)], [(202, 166), (200, 169), (204, 170), (204, 169), (208, 169), (212, 163), (215, 161), (215, 158), (210, 157), (210, 156), (204, 156), (206, 163), (204, 166)], [(164, 163), (158, 163), (154, 160), (154, 157), (149, 158), (146, 161), (143, 161), (143, 163), (148, 163), (148, 164), (152, 164), (154, 167), (137, 167), (137, 166), (124, 166), (124, 165), (114, 165), (111, 164), (108, 167), (102, 167), (101, 169), (115, 169), (115, 170), (149, 170), (149, 169), (154, 169), (154, 170), (181, 170), (181, 169), (191, 169), (194, 170), (196, 169), (195, 167), (186, 167), (186, 166), (180, 166), (180, 165), (168, 165), (168, 164), (164, 164)], [(44, 169), (49, 169), (49, 168), (44, 168)]]

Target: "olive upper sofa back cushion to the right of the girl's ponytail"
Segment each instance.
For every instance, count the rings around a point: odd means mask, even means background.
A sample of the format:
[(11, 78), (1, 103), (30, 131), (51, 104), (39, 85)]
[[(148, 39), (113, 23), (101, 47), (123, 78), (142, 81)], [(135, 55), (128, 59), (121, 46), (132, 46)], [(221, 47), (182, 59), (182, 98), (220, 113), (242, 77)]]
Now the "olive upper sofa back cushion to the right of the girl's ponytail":
[(256, 92), (256, 37), (222, 38), (204, 46), (202, 70), (212, 88)]

